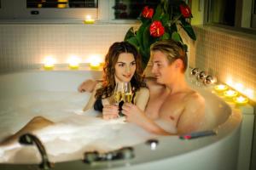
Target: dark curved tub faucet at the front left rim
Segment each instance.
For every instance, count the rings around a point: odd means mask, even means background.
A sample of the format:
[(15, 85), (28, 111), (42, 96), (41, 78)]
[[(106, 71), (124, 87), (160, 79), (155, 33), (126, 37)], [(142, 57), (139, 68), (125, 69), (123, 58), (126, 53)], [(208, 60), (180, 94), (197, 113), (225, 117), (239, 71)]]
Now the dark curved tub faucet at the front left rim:
[(44, 149), (44, 145), (38, 139), (38, 137), (31, 133), (26, 133), (20, 136), (19, 142), (20, 144), (36, 144), (40, 152), (40, 155), (42, 156), (42, 162), (39, 165), (40, 168), (50, 169), (51, 167), (54, 166), (54, 164), (49, 161), (46, 150)]

